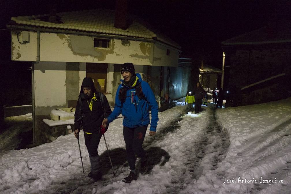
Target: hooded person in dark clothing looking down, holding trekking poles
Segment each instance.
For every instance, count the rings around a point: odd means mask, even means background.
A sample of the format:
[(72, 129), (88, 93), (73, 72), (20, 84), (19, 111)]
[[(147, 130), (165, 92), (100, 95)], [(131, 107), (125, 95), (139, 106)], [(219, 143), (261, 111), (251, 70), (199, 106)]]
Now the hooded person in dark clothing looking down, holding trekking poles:
[(110, 115), (111, 109), (105, 95), (103, 108), (100, 96), (103, 95), (96, 91), (94, 83), (90, 77), (85, 77), (82, 82), (79, 99), (75, 112), (74, 135), (79, 137), (81, 126), (83, 126), (85, 145), (87, 147), (91, 162), (91, 172), (88, 174), (94, 181), (102, 178), (100, 171), (98, 145), (102, 134), (106, 129), (101, 129), (102, 121)]

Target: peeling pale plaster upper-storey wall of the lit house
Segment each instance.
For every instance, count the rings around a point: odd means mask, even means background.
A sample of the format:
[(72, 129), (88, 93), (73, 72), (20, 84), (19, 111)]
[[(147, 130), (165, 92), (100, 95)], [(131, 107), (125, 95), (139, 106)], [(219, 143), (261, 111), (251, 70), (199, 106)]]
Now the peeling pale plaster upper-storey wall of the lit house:
[[(35, 61), (37, 33), (29, 32), (29, 43), (20, 44), (17, 35), (12, 35), (12, 60)], [(56, 33), (40, 33), (40, 61), (127, 63), (135, 65), (177, 66), (179, 52), (157, 42), (134, 40), (111, 41), (111, 48), (94, 48), (94, 37)], [(170, 49), (169, 56), (166, 49)]]

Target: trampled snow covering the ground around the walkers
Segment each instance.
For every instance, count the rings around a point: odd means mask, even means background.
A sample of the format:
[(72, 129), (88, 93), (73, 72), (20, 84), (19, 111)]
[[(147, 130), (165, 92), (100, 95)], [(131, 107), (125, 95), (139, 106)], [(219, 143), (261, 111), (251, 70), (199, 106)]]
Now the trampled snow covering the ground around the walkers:
[[(184, 103), (159, 113), (157, 134), (145, 137), (150, 171), (125, 184), (127, 176), (123, 118), (105, 133), (99, 154), (104, 178), (92, 183), (84, 135), (79, 147), (73, 134), (52, 143), (4, 150), (0, 157), (0, 193), (291, 193), (291, 98), (199, 114)], [(17, 118), (27, 118), (28, 115)], [(10, 131), (13, 133), (13, 131)], [(0, 135), (1, 149), (10, 144)], [(139, 161), (137, 161), (139, 166)]]

